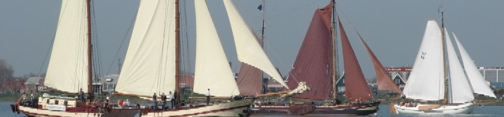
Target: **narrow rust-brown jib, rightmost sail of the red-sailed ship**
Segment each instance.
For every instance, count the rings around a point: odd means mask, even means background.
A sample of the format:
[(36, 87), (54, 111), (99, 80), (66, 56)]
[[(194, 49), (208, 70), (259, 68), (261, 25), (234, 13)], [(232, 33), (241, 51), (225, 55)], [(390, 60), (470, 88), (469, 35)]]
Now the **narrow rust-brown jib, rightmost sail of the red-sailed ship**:
[(371, 61), (373, 61), (374, 65), (374, 70), (376, 72), (376, 80), (378, 82), (378, 89), (380, 90), (389, 90), (392, 92), (396, 92), (398, 94), (403, 94), (403, 92), (400, 91), (399, 87), (397, 87), (396, 83), (392, 81), (392, 78), (390, 78), (389, 74), (385, 72), (385, 68), (383, 67), (382, 63), (378, 61), (378, 58), (374, 55), (373, 51), (371, 51), (371, 48), (367, 45), (366, 42), (364, 42), (364, 39), (362, 39), (362, 36), (360, 36), (359, 32), (355, 28), (353, 28), (353, 31), (356, 32), (357, 36), (360, 39), (360, 42), (366, 47), (367, 54), (369, 54), (369, 58), (371, 58)]

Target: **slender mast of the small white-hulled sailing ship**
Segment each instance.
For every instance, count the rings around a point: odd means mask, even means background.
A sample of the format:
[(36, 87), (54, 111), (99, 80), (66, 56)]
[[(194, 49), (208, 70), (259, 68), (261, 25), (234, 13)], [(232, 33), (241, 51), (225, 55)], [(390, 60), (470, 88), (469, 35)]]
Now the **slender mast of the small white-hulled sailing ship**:
[(443, 42), (443, 72), (445, 76), (443, 76), (443, 87), (445, 89), (445, 98), (443, 99), (443, 103), (448, 103), (448, 87), (446, 85), (446, 61), (445, 61), (445, 20), (444, 20), (444, 12), (443, 5), (441, 5), (441, 41)]

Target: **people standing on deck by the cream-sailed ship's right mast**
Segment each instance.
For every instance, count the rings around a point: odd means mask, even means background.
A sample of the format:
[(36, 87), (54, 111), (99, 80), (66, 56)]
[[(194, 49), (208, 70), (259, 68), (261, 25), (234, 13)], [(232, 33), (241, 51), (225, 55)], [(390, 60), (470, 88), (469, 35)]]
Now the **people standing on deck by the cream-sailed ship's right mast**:
[[(174, 92), (173, 94), (171, 92), (168, 92), (168, 96), (166, 96), (164, 93), (162, 93), (161, 95), (159, 95), (161, 97), (161, 109), (175, 109), (177, 107), (177, 92)], [(167, 106), (166, 105), (166, 100), (167, 99), (170, 99), (170, 104), (171, 106)], [(154, 104), (154, 107), (153, 109), (158, 109), (158, 101), (157, 101), (157, 95), (156, 93), (154, 93), (154, 95), (152, 96), (152, 100), (153, 100), (153, 104)]]

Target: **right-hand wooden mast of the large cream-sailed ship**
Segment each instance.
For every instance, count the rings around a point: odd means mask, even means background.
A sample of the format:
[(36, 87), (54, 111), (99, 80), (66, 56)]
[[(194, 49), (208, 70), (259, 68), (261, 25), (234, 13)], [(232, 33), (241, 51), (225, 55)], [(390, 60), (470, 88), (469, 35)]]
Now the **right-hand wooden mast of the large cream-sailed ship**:
[(179, 0), (175, 0), (175, 92), (178, 98), (175, 101), (180, 101), (180, 12)]

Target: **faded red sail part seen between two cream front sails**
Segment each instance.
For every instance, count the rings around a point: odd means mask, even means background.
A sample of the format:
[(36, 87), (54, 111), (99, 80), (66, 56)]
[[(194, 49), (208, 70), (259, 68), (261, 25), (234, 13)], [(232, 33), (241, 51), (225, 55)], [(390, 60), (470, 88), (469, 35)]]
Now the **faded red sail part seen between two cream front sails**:
[(256, 67), (242, 63), (236, 83), (238, 89), (240, 89), (240, 94), (244, 96), (261, 94), (262, 72)]

